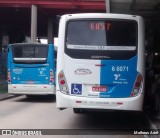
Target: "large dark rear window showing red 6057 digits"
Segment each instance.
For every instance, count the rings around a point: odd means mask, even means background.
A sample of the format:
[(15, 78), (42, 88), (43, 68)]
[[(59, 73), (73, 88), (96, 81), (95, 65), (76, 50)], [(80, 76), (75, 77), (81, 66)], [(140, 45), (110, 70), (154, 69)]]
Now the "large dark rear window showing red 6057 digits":
[(71, 20), (65, 53), (77, 59), (129, 59), (137, 54), (138, 24), (134, 20)]

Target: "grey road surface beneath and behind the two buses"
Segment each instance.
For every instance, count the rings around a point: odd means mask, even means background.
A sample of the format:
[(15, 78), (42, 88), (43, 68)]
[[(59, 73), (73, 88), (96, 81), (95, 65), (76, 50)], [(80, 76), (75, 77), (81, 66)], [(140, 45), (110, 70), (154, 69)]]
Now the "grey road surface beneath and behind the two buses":
[[(53, 131), (58, 129), (57, 132), (60, 134), (45, 136), (57, 138), (149, 138), (151, 136), (129, 135), (128, 132), (150, 128), (152, 129), (153, 125), (144, 114), (113, 111), (74, 114), (72, 109), (59, 111), (56, 109), (55, 96), (35, 98), (19, 96), (0, 101), (0, 129), (52, 129)], [(68, 134), (63, 129), (73, 130), (73, 134)], [(82, 129), (78, 130), (81, 135), (77, 135), (77, 133), (75, 135), (74, 130), (76, 129)], [(100, 132), (97, 131), (98, 129)], [(158, 138), (158, 135), (153, 137)]]

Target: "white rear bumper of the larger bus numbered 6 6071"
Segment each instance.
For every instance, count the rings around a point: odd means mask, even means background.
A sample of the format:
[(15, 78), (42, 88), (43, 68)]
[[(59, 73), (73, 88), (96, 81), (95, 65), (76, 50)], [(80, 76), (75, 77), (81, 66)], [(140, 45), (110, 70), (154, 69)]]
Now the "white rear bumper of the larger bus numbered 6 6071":
[(131, 98), (87, 98), (56, 92), (57, 108), (142, 111), (144, 94)]

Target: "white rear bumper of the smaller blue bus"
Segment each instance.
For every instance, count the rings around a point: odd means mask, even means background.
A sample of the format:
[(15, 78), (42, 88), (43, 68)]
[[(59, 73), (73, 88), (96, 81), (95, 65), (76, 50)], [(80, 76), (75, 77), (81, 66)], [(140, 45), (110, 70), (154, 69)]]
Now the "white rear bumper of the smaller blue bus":
[(55, 94), (55, 86), (54, 85), (9, 84), (8, 93), (25, 94), (25, 95)]

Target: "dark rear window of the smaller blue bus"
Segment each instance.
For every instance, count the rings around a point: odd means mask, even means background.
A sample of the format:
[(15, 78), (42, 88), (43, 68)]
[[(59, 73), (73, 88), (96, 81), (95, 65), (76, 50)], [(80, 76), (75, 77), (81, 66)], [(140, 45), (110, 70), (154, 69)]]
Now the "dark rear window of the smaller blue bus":
[(12, 45), (12, 55), (15, 63), (46, 63), (48, 57), (48, 45), (15, 44)]

